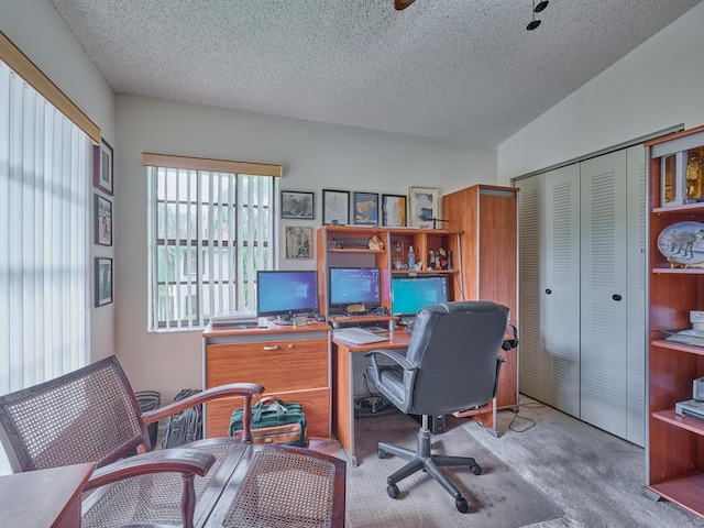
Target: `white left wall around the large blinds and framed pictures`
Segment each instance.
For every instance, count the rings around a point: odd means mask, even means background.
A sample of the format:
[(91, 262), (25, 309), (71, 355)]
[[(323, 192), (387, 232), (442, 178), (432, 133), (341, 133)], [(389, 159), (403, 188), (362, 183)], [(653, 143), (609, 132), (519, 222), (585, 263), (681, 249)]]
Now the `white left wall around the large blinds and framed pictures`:
[[(47, 0), (1, 0), (0, 31), (100, 127), (102, 136), (114, 146), (114, 95), (53, 6)], [(92, 257), (112, 256), (113, 248), (92, 243), (92, 215), (90, 221), (92, 274)], [(89, 280), (90, 360), (96, 361), (114, 352), (114, 306), (92, 307), (92, 275)]]

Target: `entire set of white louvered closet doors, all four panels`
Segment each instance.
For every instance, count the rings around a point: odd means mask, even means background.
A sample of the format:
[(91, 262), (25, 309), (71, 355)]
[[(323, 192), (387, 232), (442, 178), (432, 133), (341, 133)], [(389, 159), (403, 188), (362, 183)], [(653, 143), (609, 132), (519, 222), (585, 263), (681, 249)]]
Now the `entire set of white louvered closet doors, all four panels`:
[(645, 148), (517, 187), (520, 392), (642, 446)]

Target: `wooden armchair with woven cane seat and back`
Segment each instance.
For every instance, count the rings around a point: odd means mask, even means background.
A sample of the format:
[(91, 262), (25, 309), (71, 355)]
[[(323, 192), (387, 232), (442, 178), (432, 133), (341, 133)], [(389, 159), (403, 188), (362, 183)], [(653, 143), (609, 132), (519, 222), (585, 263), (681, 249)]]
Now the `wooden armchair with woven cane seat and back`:
[[(111, 356), (0, 397), (0, 440), (15, 473), (97, 463), (86, 490), (101, 487), (84, 502), (84, 527), (191, 528), (208, 517), (237, 466), (230, 453), (251, 442), (252, 398), (263, 391), (261, 385), (234, 383), (142, 414), (122, 367)], [(188, 449), (145, 452), (148, 424), (233, 396), (244, 400), (242, 441), (208, 439)], [(139, 454), (125, 458), (135, 448)]]

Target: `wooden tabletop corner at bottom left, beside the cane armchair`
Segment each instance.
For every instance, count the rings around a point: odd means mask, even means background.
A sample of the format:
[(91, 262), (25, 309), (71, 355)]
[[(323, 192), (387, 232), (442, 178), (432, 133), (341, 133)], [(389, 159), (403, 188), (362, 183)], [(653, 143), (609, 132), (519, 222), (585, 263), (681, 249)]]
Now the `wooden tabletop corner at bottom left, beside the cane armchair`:
[(0, 476), (0, 526), (80, 527), (80, 494), (96, 464)]

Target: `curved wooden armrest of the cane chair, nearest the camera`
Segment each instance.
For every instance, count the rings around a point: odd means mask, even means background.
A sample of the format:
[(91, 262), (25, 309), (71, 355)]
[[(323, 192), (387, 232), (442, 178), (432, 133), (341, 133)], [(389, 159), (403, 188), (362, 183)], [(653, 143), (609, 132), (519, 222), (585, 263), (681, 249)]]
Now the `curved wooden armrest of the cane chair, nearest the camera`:
[(163, 449), (118, 460), (97, 469), (85, 490), (103, 486), (112, 482), (147, 473), (175, 472), (204, 476), (216, 458), (197, 449)]

